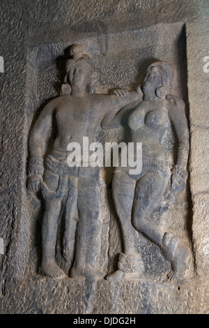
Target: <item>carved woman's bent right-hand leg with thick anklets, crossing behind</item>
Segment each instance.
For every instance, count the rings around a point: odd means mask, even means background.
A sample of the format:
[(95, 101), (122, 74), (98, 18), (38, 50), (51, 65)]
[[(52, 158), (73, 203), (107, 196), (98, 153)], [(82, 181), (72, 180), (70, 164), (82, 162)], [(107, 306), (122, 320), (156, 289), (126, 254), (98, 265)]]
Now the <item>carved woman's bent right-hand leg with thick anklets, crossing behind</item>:
[(146, 173), (139, 181), (134, 195), (132, 224), (150, 241), (160, 247), (163, 255), (171, 261), (171, 272), (168, 277), (173, 279), (185, 275), (188, 265), (189, 250), (181, 239), (170, 232), (164, 233), (151, 218), (155, 204), (161, 199), (167, 187), (167, 180), (157, 172)]

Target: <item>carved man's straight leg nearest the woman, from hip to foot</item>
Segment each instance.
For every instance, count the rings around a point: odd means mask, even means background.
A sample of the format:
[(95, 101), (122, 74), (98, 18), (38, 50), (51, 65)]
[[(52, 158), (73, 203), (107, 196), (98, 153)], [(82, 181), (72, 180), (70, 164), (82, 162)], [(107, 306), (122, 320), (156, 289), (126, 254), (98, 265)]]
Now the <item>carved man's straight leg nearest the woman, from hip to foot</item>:
[(102, 222), (100, 221), (100, 185), (98, 177), (81, 177), (78, 183), (77, 235), (75, 241), (75, 261), (71, 277), (101, 276), (96, 267), (100, 248), (96, 240), (100, 238)]

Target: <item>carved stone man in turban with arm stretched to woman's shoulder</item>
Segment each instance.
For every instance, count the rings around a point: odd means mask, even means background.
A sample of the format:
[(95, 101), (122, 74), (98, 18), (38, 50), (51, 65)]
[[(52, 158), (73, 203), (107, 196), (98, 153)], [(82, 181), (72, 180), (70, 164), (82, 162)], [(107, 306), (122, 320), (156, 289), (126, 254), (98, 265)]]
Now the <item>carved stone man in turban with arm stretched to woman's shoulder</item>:
[[(40, 113), (29, 135), (29, 180), (30, 191), (42, 190), (45, 199), (45, 212), (42, 225), (42, 264), (41, 272), (52, 278), (63, 278), (63, 270), (56, 264), (55, 248), (58, 220), (63, 211), (70, 207), (68, 215), (74, 215), (77, 224), (75, 241), (75, 259), (71, 269), (72, 278), (80, 276), (99, 276), (95, 268), (98, 250), (94, 241), (100, 231), (100, 167), (69, 167), (67, 147), (69, 142), (82, 145), (83, 137), (93, 142), (95, 129), (100, 125), (104, 114), (109, 110), (120, 109), (139, 97), (136, 92), (123, 91), (121, 96), (87, 94), (86, 84), (91, 82), (93, 66), (91, 58), (82, 54), (68, 61), (68, 75), (65, 82), (71, 87), (71, 93), (51, 100)], [(74, 52), (76, 47), (74, 46)], [(56, 139), (49, 156), (43, 161), (43, 135), (56, 121)], [(74, 198), (71, 193), (74, 186)], [(72, 200), (73, 198), (73, 200)], [(72, 209), (73, 207), (73, 209)], [(70, 214), (69, 214), (70, 213)], [(73, 213), (73, 214), (72, 214)], [(78, 218), (76, 218), (78, 216)], [(78, 222), (76, 222), (78, 219)], [(68, 218), (63, 238), (63, 256), (68, 257), (68, 239), (70, 238), (70, 220)], [(69, 232), (69, 234), (68, 234)], [(72, 252), (71, 252), (72, 253)], [(72, 254), (70, 255), (72, 258)]]

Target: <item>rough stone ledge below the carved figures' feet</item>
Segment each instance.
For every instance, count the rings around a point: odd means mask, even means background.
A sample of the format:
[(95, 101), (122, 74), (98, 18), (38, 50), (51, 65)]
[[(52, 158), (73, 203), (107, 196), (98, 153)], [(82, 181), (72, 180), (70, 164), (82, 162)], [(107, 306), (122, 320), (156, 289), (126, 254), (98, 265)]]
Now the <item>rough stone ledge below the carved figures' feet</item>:
[(0, 299), (0, 309), (20, 314), (202, 314), (208, 313), (208, 296), (206, 282), (198, 279), (177, 283), (102, 280), (89, 301), (83, 280), (44, 278), (10, 285), (6, 297)]

